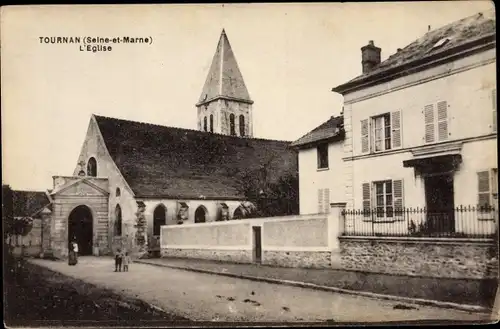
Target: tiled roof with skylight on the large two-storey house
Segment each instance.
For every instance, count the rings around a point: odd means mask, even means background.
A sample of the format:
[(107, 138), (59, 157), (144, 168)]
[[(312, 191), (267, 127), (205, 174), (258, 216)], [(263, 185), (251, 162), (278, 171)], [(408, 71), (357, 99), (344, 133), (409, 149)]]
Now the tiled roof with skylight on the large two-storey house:
[(439, 55), (444, 55), (454, 48), (465, 46), (470, 42), (488, 36), (494, 36), (495, 33), (494, 11), (463, 18), (427, 32), (421, 38), (391, 55), (371, 71), (333, 88), (333, 91), (342, 92), (345, 89), (367, 82), (376, 76), (389, 74), (389, 71), (397, 71), (399, 68), (403, 70), (403, 67), (407, 69), (413, 63), (439, 57)]

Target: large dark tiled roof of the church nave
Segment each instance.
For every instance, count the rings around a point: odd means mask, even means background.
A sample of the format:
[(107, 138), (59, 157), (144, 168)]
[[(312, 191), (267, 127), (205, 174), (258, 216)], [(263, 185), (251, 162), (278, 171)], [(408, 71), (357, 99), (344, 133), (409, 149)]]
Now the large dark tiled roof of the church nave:
[(297, 175), (290, 142), (240, 138), (95, 116), (106, 147), (138, 197), (244, 199), (239, 175), (270, 163)]

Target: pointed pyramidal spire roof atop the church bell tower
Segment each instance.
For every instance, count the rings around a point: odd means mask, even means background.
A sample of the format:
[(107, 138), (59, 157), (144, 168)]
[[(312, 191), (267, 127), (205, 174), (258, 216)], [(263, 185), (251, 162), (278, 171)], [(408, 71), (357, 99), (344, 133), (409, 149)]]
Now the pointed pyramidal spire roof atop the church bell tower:
[(224, 30), (220, 35), (212, 65), (197, 105), (217, 98), (237, 99), (253, 103)]

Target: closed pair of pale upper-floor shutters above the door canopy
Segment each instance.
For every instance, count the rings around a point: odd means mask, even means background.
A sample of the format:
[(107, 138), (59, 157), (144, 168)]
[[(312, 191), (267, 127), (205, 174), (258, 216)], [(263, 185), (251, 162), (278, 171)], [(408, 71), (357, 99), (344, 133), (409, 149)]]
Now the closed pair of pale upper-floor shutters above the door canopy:
[(424, 107), (424, 123), (426, 143), (443, 142), (448, 140), (448, 102), (440, 101)]

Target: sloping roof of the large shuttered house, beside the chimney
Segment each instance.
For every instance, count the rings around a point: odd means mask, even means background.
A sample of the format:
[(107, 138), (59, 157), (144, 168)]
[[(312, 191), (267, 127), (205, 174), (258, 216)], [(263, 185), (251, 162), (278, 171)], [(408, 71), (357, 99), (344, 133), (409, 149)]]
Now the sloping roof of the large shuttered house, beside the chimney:
[(496, 35), (496, 20), (494, 11), (478, 13), (473, 16), (450, 23), (439, 29), (429, 31), (421, 38), (399, 50), (385, 61), (342, 85), (332, 89), (334, 92), (345, 93), (350, 90), (376, 84), (376, 81), (386, 81), (394, 78), (412, 67), (430, 63), (438, 59), (448, 58), (476, 47), (494, 47)]

